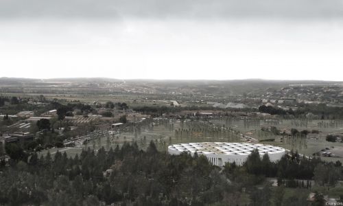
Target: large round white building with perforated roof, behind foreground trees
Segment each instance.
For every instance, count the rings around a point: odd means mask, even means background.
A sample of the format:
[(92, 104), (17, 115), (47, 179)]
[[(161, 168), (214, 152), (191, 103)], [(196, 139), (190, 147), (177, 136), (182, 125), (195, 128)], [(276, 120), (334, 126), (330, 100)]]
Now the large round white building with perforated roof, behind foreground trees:
[(251, 151), (257, 149), (259, 155), (268, 154), (270, 161), (278, 161), (285, 155), (285, 149), (277, 146), (250, 143), (228, 143), (228, 142), (198, 142), (174, 144), (168, 146), (171, 155), (179, 155), (181, 152), (189, 152), (192, 156), (195, 152), (204, 155), (211, 163), (223, 166), (225, 163), (237, 163), (241, 165), (246, 161)]

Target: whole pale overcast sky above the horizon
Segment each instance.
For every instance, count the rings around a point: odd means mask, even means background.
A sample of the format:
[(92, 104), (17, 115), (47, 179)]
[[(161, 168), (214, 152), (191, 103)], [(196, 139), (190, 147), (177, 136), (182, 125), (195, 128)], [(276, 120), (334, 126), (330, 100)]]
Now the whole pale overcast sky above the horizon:
[(341, 0), (0, 0), (0, 76), (343, 80)]

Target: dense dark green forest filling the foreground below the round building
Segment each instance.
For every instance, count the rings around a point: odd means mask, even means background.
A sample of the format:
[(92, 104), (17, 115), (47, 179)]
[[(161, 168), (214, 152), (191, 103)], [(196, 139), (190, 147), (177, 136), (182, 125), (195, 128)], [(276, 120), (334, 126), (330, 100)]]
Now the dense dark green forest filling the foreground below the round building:
[(277, 178), (279, 191), (311, 187), (295, 179), (334, 187), (342, 176), (340, 162), (323, 163), (294, 152), (272, 163), (255, 150), (244, 165), (220, 168), (202, 155), (158, 152), (153, 142), (146, 151), (126, 143), (108, 151), (88, 148), (73, 158), (65, 152), (12, 154), (0, 167), (0, 205), (241, 205), (244, 196), (248, 205), (278, 205), (280, 198), (279, 205), (301, 205), (306, 198), (282, 200), (265, 177)]

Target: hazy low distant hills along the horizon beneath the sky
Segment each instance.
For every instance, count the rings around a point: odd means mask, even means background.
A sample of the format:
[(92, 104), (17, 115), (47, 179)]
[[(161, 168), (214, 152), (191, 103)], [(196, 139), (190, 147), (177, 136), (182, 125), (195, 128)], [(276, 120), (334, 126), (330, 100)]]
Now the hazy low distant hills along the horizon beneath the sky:
[[(110, 93), (182, 93), (189, 95), (242, 95), (254, 93), (258, 95), (265, 91), (279, 90), (289, 85), (338, 85), (343, 82), (330, 82), (319, 80), (118, 80), (113, 78), (53, 78), (53, 79), (29, 79), (29, 78), (0, 78), (0, 88), (5, 92), (32, 91), (57, 92), (69, 88), (71, 93), (78, 93), (82, 88), (87, 91)], [(13, 89), (16, 87), (16, 89)], [(51, 89), (54, 88), (54, 89)], [(12, 90), (11, 90), (12, 89)]]

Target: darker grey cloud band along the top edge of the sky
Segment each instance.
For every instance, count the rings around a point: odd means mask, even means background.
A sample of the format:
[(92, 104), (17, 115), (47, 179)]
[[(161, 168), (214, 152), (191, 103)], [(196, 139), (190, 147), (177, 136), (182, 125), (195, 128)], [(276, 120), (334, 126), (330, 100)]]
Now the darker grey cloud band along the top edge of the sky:
[(342, 0), (0, 0), (0, 18), (342, 18)]

